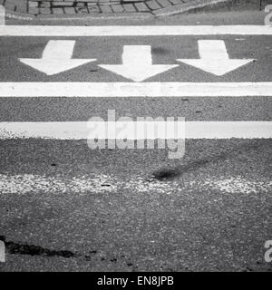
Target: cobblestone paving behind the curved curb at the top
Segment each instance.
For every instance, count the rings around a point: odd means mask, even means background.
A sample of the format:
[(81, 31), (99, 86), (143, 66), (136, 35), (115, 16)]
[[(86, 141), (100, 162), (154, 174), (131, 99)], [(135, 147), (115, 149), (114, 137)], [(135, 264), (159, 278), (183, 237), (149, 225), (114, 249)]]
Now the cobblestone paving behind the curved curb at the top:
[(192, 0), (0, 0), (9, 12), (28, 14), (152, 13)]

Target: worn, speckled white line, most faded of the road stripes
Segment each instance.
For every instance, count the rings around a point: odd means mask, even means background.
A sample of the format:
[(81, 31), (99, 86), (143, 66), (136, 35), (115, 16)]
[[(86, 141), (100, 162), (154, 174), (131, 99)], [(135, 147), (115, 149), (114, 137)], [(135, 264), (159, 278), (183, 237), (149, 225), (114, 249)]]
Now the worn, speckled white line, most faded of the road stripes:
[[(104, 186), (107, 185), (107, 186)], [(38, 174), (0, 174), (0, 195), (4, 194), (74, 194), (90, 195), (102, 193), (117, 193), (120, 190), (148, 193), (155, 191), (157, 194), (182, 194), (190, 190), (216, 190), (222, 194), (257, 194), (271, 192), (272, 182), (266, 179), (245, 179), (239, 176), (227, 179), (209, 178), (184, 180), (171, 180), (170, 182), (146, 180), (146, 177), (133, 176), (131, 179), (120, 179), (113, 175), (89, 175), (73, 177), (71, 179), (58, 176), (46, 177)], [(185, 191), (186, 189), (186, 191)], [(213, 200), (217, 202), (218, 200)]]

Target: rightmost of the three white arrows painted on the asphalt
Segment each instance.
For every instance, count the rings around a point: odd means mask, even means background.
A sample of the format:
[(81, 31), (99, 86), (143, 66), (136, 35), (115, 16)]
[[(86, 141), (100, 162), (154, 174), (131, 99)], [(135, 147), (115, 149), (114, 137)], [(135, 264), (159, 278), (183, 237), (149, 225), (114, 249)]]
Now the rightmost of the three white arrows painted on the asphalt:
[(177, 61), (216, 75), (229, 73), (254, 61), (254, 59), (229, 59), (226, 44), (222, 40), (199, 40), (199, 56), (200, 59), (178, 59)]

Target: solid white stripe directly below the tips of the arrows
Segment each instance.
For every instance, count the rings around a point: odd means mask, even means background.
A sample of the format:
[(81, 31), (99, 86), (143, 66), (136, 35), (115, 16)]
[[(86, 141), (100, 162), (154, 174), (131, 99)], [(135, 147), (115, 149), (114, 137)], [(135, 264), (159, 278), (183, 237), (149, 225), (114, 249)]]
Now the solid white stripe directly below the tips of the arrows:
[(272, 96), (272, 82), (0, 82), (0, 97)]

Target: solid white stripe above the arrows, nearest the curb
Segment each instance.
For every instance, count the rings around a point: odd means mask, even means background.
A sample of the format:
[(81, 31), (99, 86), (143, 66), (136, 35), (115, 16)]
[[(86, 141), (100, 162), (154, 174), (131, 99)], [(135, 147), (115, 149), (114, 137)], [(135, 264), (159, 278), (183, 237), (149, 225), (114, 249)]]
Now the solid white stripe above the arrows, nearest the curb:
[(166, 35), (271, 35), (269, 25), (176, 26), (0, 26), (0, 36), (166, 36)]

